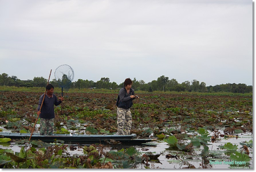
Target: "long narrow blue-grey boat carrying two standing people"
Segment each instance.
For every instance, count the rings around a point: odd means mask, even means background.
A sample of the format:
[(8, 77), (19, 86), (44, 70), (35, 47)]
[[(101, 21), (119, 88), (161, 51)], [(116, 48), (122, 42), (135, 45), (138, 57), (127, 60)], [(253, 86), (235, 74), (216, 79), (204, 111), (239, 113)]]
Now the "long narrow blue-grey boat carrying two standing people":
[[(12, 132), (0, 132), (0, 137), (6, 137), (11, 139), (29, 139), (31, 133), (12, 133)], [(130, 135), (117, 135), (117, 134), (52, 134), (52, 135), (40, 135), (33, 133), (31, 140), (42, 140), (44, 142), (54, 142), (55, 139), (63, 140), (65, 143), (70, 144), (94, 144), (94, 143), (112, 143), (117, 144), (141, 144), (146, 142), (155, 141), (156, 139), (137, 139), (136, 134)]]

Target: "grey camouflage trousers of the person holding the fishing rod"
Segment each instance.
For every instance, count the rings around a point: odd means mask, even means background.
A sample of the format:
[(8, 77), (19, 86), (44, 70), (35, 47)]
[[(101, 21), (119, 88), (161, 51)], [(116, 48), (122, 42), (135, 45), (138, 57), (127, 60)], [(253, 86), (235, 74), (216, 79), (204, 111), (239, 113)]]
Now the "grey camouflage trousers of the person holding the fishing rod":
[(131, 130), (131, 111), (117, 107), (117, 134), (129, 135)]

